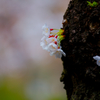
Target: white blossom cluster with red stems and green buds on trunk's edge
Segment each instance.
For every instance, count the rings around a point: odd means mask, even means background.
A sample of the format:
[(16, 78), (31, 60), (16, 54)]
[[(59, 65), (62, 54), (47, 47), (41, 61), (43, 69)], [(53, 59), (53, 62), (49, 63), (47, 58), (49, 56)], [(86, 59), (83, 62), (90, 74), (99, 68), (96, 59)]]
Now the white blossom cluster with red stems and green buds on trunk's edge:
[[(42, 27), (43, 37), (41, 39), (40, 45), (44, 50), (50, 52), (50, 55), (55, 55), (56, 58), (61, 58), (62, 55), (66, 56), (64, 51), (61, 49), (60, 43), (64, 39), (63, 29), (50, 29), (47, 25)], [(58, 32), (52, 32), (57, 30)]]

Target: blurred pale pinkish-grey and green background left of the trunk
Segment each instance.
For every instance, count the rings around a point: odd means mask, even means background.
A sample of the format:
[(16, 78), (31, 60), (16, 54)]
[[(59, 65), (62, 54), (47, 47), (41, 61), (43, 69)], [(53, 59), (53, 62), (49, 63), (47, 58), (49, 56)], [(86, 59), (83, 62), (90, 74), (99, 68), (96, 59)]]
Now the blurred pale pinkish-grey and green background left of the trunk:
[(61, 28), (70, 0), (0, 0), (0, 100), (66, 100), (61, 59), (40, 47), (42, 26)]

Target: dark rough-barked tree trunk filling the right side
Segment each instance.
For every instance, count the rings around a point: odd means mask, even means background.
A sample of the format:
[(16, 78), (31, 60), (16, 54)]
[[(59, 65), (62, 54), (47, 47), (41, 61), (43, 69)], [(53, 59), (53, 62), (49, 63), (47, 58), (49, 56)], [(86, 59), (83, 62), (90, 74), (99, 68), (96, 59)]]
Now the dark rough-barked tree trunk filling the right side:
[(60, 80), (68, 100), (100, 100), (100, 67), (93, 59), (100, 56), (100, 1), (95, 1), (98, 5), (91, 7), (87, 0), (72, 0), (64, 14)]

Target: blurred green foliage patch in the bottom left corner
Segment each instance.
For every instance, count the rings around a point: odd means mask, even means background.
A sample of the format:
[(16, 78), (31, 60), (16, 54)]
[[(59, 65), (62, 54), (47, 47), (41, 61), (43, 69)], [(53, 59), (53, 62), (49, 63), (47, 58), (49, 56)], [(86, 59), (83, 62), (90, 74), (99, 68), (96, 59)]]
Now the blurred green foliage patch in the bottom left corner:
[(0, 80), (0, 100), (28, 100), (23, 87), (10, 79)]

